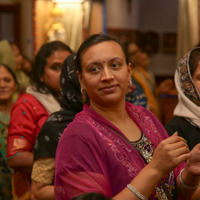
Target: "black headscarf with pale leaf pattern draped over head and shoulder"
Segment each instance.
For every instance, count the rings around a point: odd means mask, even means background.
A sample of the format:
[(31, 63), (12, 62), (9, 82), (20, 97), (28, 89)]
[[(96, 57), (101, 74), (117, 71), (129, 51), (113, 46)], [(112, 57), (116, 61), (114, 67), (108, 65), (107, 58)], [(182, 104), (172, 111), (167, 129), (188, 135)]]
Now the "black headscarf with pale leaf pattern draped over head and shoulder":
[(83, 109), (75, 58), (76, 54), (71, 54), (63, 63), (60, 77), (62, 109), (51, 114), (41, 128), (34, 146), (34, 160), (41, 157), (55, 157), (63, 130)]

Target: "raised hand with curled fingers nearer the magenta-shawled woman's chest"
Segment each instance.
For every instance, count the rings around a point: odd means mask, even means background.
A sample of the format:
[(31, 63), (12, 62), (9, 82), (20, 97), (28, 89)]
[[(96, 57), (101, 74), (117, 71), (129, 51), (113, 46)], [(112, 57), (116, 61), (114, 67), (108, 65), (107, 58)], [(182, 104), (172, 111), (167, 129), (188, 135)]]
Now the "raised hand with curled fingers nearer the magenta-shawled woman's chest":
[(149, 165), (163, 177), (190, 157), (191, 154), (185, 139), (175, 133), (158, 145)]

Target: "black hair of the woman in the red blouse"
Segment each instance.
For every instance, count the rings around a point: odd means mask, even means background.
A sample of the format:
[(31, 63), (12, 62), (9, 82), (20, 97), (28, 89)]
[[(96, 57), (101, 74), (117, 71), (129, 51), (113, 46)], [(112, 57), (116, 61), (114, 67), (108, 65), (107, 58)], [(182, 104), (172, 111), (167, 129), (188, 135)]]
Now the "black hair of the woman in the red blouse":
[(44, 69), (47, 64), (47, 59), (58, 50), (64, 50), (72, 53), (70, 47), (63, 42), (53, 41), (42, 45), (35, 57), (35, 65), (30, 77), (30, 83), (34, 88), (41, 93), (51, 93), (51, 90), (40, 80), (44, 75)]

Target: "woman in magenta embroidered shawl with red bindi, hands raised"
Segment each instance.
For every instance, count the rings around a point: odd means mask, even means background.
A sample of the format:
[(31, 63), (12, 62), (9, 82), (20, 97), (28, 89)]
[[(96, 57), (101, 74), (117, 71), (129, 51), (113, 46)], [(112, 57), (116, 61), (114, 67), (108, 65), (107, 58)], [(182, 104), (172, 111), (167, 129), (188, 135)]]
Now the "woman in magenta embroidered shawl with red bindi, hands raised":
[(56, 200), (88, 192), (114, 200), (190, 199), (199, 186), (200, 145), (191, 155), (186, 141), (168, 137), (150, 111), (125, 102), (131, 64), (120, 42), (103, 34), (89, 37), (76, 67), (89, 103), (59, 141)]

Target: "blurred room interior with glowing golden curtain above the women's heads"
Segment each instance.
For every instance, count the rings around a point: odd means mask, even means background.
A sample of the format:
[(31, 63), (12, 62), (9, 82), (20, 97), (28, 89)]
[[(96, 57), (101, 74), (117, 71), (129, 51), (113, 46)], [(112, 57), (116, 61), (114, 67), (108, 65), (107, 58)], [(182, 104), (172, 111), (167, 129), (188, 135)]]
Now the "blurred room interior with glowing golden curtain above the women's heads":
[(199, 43), (198, 0), (0, 0), (0, 40), (34, 58), (62, 40), (76, 51), (93, 33), (135, 42), (149, 54), (156, 81), (173, 77), (177, 62)]

